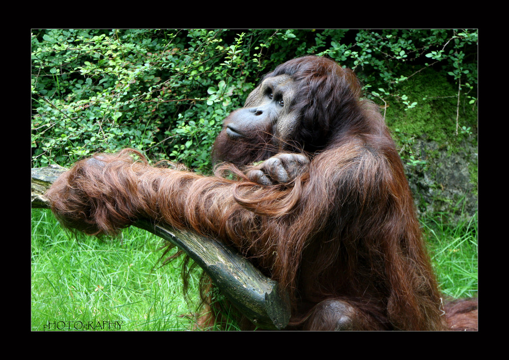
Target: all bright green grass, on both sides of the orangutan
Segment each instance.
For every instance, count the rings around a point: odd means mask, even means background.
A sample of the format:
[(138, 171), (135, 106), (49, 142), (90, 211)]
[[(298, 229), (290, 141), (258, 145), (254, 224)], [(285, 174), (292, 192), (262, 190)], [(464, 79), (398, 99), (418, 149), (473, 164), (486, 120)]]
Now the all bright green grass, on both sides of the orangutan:
[[(427, 217), (422, 224), (441, 290), (455, 298), (475, 295), (477, 219), (452, 227), (440, 218)], [(33, 210), (32, 330), (56, 324), (62, 330), (82, 329), (89, 323), (96, 330), (192, 329), (185, 315), (196, 311), (197, 279), (192, 278), (186, 302), (181, 259), (158, 267), (161, 244), (134, 227), (118, 240), (76, 238), (49, 210)]]

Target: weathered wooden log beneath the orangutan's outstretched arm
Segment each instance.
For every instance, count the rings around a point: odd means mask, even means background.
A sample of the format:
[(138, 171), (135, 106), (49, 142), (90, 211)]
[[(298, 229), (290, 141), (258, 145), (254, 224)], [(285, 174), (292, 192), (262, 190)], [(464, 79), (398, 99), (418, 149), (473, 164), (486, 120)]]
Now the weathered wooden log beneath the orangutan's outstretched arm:
[[(44, 192), (66, 169), (58, 165), (32, 169), (32, 207), (49, 208)], [(290, 320), (288, 294), (247, 259), (221, 242), (139, 219), (134, 226), (147, 230), (189, 255), (210, 276), (221, 292), (254, 324), (283, 329)]]

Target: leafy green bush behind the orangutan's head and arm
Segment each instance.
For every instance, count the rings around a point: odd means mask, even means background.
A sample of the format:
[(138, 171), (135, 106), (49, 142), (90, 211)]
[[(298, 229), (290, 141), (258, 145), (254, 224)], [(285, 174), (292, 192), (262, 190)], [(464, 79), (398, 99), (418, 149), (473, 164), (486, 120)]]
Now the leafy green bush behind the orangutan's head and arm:
[(134, 147), (207, 171), (224, 117), (263, 74), (309, 53), (353, 68), (381, 105), (428, 101), (401, 86), (424, 69), (475, 105), (476, 43), (464, 30), (36, 30), (34, 165)]

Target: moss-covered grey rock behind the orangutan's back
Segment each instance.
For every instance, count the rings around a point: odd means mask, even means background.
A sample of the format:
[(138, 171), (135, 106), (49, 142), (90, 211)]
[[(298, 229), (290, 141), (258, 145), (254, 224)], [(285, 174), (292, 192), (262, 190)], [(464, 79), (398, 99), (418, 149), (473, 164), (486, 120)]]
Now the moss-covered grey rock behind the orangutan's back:
[(427, 69), (404, 82), (399, 94), (417, 105), (405, 110), (407, 105), (394, 97), (386, 121), (401, 149), (418, 211), (447, 212), (455, 222), (477, 209), (477, 107), (463, 93), (458, 106), (457, 85), (442, 74)]

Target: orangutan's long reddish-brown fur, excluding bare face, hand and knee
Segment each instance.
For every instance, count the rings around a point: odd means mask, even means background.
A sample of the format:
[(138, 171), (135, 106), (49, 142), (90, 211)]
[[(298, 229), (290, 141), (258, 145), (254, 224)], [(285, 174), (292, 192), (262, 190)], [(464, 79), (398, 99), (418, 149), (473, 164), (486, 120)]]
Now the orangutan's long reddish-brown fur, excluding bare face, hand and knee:
[[(126, 149), (77, 162), (46, 194), (53, 211), (90, 235), (150, 218), (221, 239), (289, 291), (290, 328), (322, 328), (326, 319), (310, 315), (338, 299), (358, 309), (366, 329), (475, 329), (476, 310), (460, 312), (471, 319), (462, 328), (444, 316), (401, 159), (353, 72), (308, 57), (268, 76), (280, 73), (301, 84), (297, 143), (309, 144), (315, 127), (327, 139), (304, 148), (309, 171), (291, 186), (261, 186), (232, 167), (236, 180), (151, 167)], [(214, 151), (242, 168), (285, 150), (270, 145), (232, 145), (221, 133)]]

